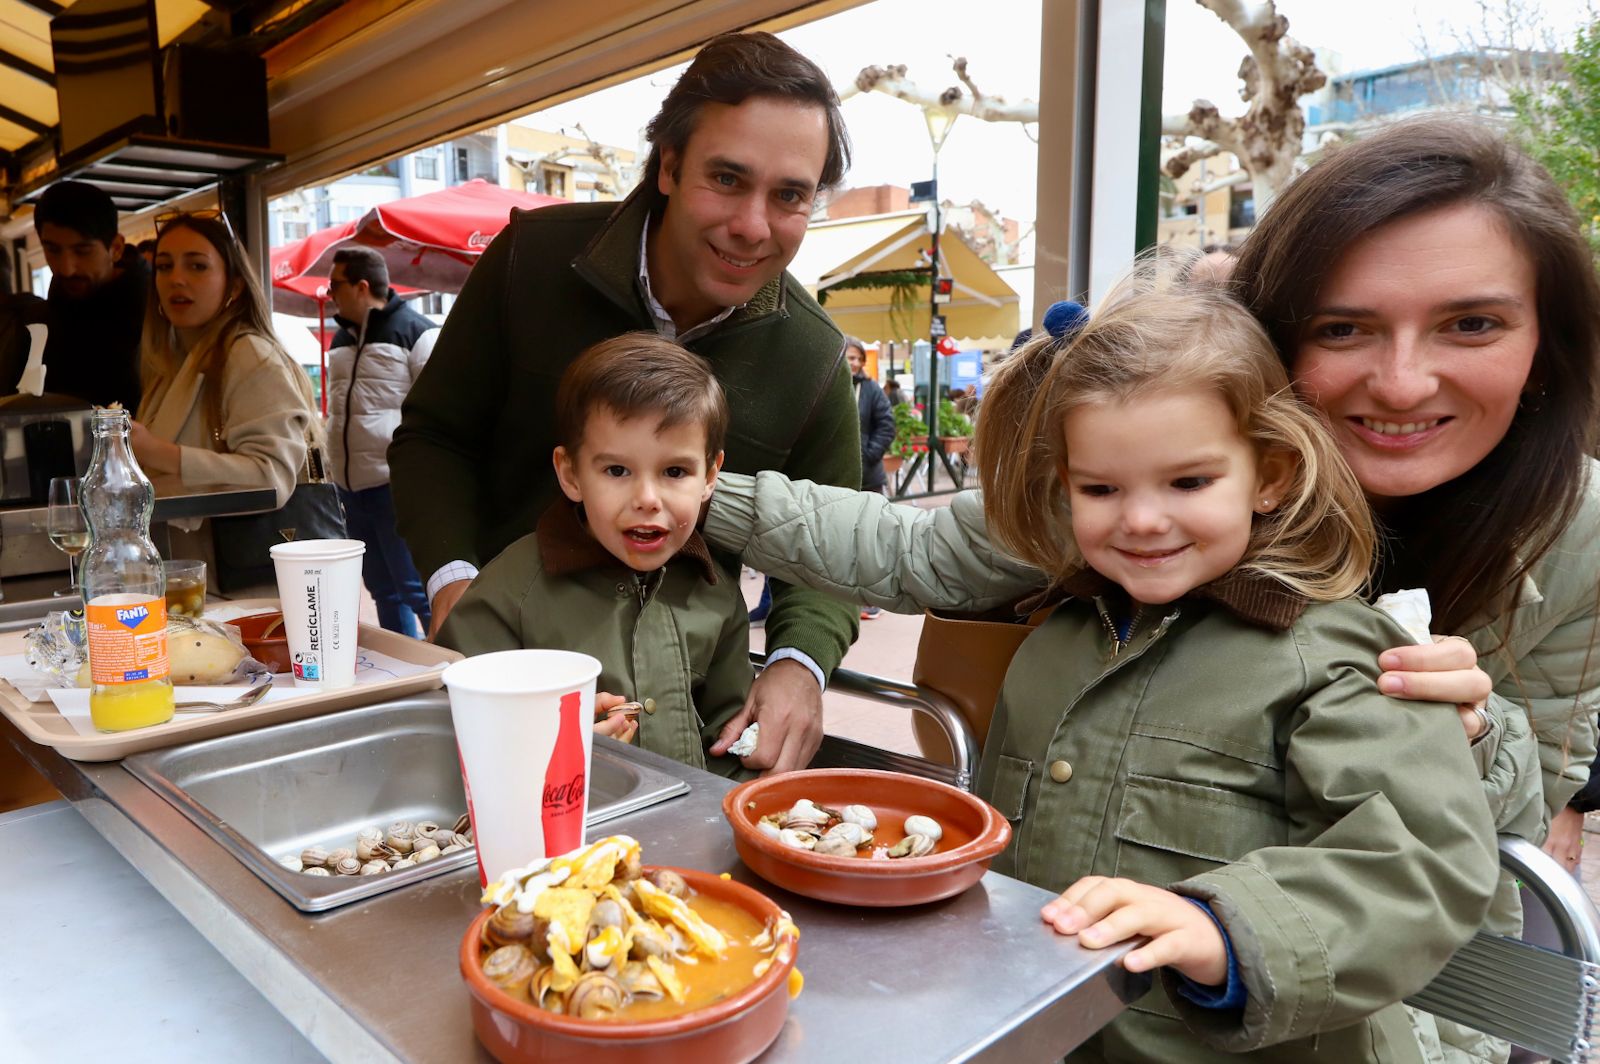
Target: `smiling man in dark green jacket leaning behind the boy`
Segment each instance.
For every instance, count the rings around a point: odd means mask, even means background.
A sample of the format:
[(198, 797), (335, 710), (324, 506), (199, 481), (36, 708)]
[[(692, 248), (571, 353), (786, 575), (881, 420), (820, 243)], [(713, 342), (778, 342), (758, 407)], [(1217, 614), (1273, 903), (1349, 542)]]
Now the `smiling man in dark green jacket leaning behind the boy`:
[[(726, 469), (861, 486), (840, 331), (784, 270), (848, 144), (827, 77), (770, 34), (706, 45), (646, 134), (640, 187), (616, 210), (514, 213), (483, 253), (405, 405), (389, 451), (400, 533), (429, 576), (434, 630), (557, 493), (555, 386), (579, 352), (654, 330), (706, 358), (733, 410)], [(725, 565), (738, 571), (738, 558)], [(856, 611), (776, 589), (770, 666), (712, 746), (752, 720), (750, 768), (803, 768), (822, 685)]]

